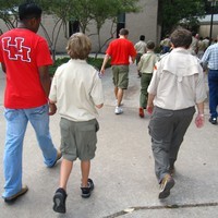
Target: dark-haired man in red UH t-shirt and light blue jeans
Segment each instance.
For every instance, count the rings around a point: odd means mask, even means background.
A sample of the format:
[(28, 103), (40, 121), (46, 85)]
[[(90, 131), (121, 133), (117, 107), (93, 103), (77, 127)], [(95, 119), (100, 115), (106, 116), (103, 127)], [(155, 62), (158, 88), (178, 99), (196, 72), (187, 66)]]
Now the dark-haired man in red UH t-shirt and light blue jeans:
[(61, 158), (49, 133), (47, 99), (51, 81), (48, 65), (52, 60), (47, 41), (36, 34), (41, 9), (35, 3), (23, 3), (19, 7), (19, 16), (17, 28), (0, 36), (0, 62), (7, 77), (4, 202), (13, 202), (28, 190), (22, 183), (23, 140), (28, 121), (35, 130), (47, 167), (53, 167)]

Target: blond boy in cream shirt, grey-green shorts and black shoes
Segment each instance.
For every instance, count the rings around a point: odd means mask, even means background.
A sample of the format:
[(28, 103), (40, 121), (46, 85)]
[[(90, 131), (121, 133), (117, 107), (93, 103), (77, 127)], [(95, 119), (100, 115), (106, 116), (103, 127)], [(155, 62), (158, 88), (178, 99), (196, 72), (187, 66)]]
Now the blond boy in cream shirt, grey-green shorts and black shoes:
[(82, 33), (68, 41), (69, 62), (56, 71), (49, 95), (50, 110), (57, 104), (61, 116), (61, 153), (59, 189), (53, 196), (53, 210), (65, 213), (66, 183), (73, 161), (81, 160), (82, 197), (89, 197), (94, 182), (88, 178), (90, 159), (95, 157), (99, 130), (96, 108), (104, 105), (102, 85), (98, 71), (86, 62), (90, 52), (90, 40)]

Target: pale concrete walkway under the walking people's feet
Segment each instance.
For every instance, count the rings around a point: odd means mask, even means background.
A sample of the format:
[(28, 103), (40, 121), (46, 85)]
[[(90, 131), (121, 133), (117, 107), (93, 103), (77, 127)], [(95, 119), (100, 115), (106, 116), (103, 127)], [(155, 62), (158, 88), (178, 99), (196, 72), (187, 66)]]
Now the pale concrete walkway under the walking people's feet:
[[(3, 158), (5, 122), (3, 118), (4, 76), (0, 72), (0, 159)], [(58, 164), (48, 169), (43, 164), (34, 131), (28, 125), (23, 152), (23, 182), (29, 187), (26, 195), (13, 205), (0, 204), (0, 218), (216, 218), (218, 217), (218, 125), (211, 125), (206, 106), (206, 122), (196, 129), (192, 122), (175, 165), (175, 185), (171, 195), (158, 199), (157, 180), (150, 137), (149, 117), (138, 112), (140, 80), (131, 65), (130, 87), (124, 96), (124, 113), (116, 116), (111, 71), (102, 77), (106, 102), (99, 110), (100, 131), (96, 158), (92, 161), (90, 178), (95, 190), (88, 199), (80, 190), (80, 161), (72, 171), (66, 199), (66, 214), (52, 210), (52, 196), (58, 187)], [(57, 147), (60, 144), (59, 116), (50, 119), (50, 130)], [(0, 165), (0, 191), (3, 172)]]

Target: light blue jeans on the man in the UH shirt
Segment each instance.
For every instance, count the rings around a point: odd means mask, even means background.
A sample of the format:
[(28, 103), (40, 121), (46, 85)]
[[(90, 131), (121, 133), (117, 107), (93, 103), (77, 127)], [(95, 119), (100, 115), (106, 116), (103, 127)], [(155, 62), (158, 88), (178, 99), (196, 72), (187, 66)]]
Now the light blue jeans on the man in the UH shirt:
[(38, 144), (47, 167), (51, 167), (57, 158), (57, 149), (49, 133), (48, 105), (32, 109), (7, 109), (7, 136), (3, 156), (4, 193), (10, 197), (22, 189), (22, 152), (24, 134), (28, 121), (35, 130)]

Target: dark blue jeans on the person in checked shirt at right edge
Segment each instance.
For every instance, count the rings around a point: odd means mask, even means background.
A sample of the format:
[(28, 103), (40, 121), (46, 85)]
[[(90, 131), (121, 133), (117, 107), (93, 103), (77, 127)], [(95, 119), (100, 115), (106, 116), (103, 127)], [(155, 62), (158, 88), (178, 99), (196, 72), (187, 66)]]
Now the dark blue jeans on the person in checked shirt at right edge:
[(209, 85), (209, 112), (211, 118), (217, 118), (218, 106), (218, 70), (209, 70), (208, 72)]

